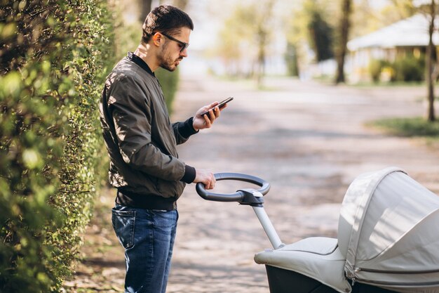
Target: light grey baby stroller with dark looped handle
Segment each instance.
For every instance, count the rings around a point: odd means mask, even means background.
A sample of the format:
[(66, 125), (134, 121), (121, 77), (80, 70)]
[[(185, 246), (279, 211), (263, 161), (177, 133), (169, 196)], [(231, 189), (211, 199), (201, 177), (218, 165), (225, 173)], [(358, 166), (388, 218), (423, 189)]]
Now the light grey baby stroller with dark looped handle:
[(259, 185), (205, 200), (250, 205), (273, 249), (255, 255), (266, 266), (271, 293), (438, 293), (439, 197), (398, 168), (358, 176), (339, 216), (338, 238), (309, 237), (284, 245), (263, 207), (270, 185), (245, 174), (215, 174), (217, 181)]

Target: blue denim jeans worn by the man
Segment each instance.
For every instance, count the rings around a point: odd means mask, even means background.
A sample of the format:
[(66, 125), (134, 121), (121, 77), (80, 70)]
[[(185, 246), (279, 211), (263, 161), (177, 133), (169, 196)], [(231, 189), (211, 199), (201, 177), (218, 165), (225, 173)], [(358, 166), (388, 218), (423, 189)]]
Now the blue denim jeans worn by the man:
[(177, 210), (120, 204), (112, 209), (113, 228), (125, 248), (126, 293), (166, 292), (177, 220)]

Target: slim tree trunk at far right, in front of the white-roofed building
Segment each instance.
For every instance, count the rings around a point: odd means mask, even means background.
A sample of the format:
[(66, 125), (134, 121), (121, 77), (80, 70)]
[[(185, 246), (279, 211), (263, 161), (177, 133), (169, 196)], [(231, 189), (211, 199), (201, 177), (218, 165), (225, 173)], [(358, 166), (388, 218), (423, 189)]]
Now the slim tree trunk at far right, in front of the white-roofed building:
[(435, 20), (435, 11), (436, 5), (435, 0), (431, 0), (430, 5), (430, 25), (428, 27), (428, 47), (427, 47), (427, 85), (428, 85), (428, 113), (427, 119), (428, 121), (435, 121), (435, 112), (434, 112), (434, 84), (433, 84), (433, 65), (435, 63), (434, 60), (434, 51), (435, 46), (433, 44), (433, 32), (434, 32), (434, 20)]

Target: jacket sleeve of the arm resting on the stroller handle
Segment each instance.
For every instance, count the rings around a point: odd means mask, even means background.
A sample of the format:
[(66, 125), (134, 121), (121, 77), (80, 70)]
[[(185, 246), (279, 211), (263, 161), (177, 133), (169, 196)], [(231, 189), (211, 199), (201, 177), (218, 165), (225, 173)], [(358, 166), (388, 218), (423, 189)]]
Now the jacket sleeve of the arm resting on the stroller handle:
[(116, 143), (123, 161), (131, 168), (164, 180), (179, 181), (184, 176), (184, 162), (161, 152), (151, 141), (151, 108), (146, 94), (132, 77), (121, 77), (112, 84), (108, 103)]

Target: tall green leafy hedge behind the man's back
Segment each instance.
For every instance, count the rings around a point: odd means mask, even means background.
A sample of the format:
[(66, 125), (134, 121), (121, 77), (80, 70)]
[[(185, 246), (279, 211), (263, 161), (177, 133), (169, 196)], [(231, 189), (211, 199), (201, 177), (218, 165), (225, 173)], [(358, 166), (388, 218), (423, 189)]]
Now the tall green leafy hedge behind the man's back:
[(0, 292), (58, 292), (104, 178), (104, 0), (0, 0)]

